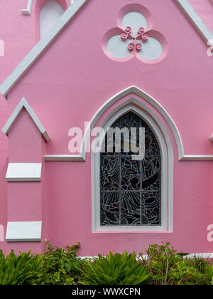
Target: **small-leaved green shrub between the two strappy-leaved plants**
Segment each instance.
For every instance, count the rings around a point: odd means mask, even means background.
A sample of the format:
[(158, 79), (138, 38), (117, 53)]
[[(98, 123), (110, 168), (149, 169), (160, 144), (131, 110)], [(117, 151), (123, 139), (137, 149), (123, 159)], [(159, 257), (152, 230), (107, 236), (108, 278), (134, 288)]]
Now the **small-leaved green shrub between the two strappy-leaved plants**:
[[(45, 243), (43, 264), (35, 278), (35, 284), (45, 285), (75, 285), (83, 279), (82, 267), (86, 260), (77, 258), (80, 243), (66, 246), (66, 249)], [(45, 279), (43, 273), (47, 274)]]

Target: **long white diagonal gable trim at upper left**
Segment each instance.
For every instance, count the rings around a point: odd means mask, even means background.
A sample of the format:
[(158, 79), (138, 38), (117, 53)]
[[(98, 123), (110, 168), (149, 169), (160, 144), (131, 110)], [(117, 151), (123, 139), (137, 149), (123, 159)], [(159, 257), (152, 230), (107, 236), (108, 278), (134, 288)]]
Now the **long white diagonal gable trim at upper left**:
[(46, 48), (52, 43), (52, 41), (58, 36), (67, 23), (74, 18), (82, 6), (87, 0), (76, 0), (65, 12), (62, 14), (60, 19), (55, 26), (48, 31), (48, 33), (33, 47), (33, 49), (27, 54), (23, 61), (13, 70), (9, 77), (4, 80), (4, 83), (0, 86), (0, 93), (6, 97), (9, 90), (18, 82), (28, 68), (37, 61), (38, 57), (45, 51)]

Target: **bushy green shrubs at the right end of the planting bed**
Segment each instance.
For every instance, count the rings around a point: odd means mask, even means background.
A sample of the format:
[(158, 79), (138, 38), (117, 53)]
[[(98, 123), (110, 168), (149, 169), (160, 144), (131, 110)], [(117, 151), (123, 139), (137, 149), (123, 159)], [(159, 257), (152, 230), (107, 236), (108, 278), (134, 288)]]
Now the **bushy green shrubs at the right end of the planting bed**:
[(147, 258), (140, 253), (141, 263), (148, 267), (153, 285), (202, 285), (210, 284), (209, 261), (187, 259), (187, 253), (177, 253), (170, 243), (150, 245)]

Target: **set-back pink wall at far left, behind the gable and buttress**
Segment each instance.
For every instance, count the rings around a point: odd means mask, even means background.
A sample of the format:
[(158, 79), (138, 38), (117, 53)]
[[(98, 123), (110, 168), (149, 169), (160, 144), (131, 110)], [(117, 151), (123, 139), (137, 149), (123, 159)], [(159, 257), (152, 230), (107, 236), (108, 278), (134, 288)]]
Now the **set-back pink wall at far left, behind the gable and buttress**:
[[(21, 14), (26, 9), (26, 0), (7, 0), (1, 3), (0, 39), (4, 41), (4, 57), (0, 57), (0, 82), (13, 71), (16, 65), (35, 45), (35, 23), (33, 18)], [(0, 97), (0, 127), (9, 117), (7, 101)], [(0, 134), (0, 224), (6, 233), (6, 169), (8, 164), (8, 138)], [(0, 248), (6, 250), (6, 243), (0, 242)]]

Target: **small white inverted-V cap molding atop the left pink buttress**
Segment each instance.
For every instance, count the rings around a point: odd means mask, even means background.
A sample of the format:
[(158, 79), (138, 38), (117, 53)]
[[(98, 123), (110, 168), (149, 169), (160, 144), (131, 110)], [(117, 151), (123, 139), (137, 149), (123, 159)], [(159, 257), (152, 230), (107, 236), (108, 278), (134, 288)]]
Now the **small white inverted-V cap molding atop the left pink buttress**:
[(9, 120), (7, 120), (6, 124), (2, 128), (2, 132), (4, 132), (5, 135), (8, 135), (9, 130), (11, 129), (13, 122), (15, 122), (16, 118), (20, 114), (23, 107), (27, 110), (28, 114), (31, 116), (33, 122), (35, 122), (35, 125), (38, 127), (38, 130), (40, 130), (41, 134), (45, 138), (45, 140), (48, 142), (50, 140), (50, 136), (48, 135), (48, 132), (43, 127), (40, 120), (38, 120), (38, 117), (35, 115), (35, 112), (31, 108), (31, 106), (28, 104), (27, 100), (25, 98), (22, 98), (21, 101), (18, 103), (16, 108), (13, 110), (11, 116), (9, 117)]

